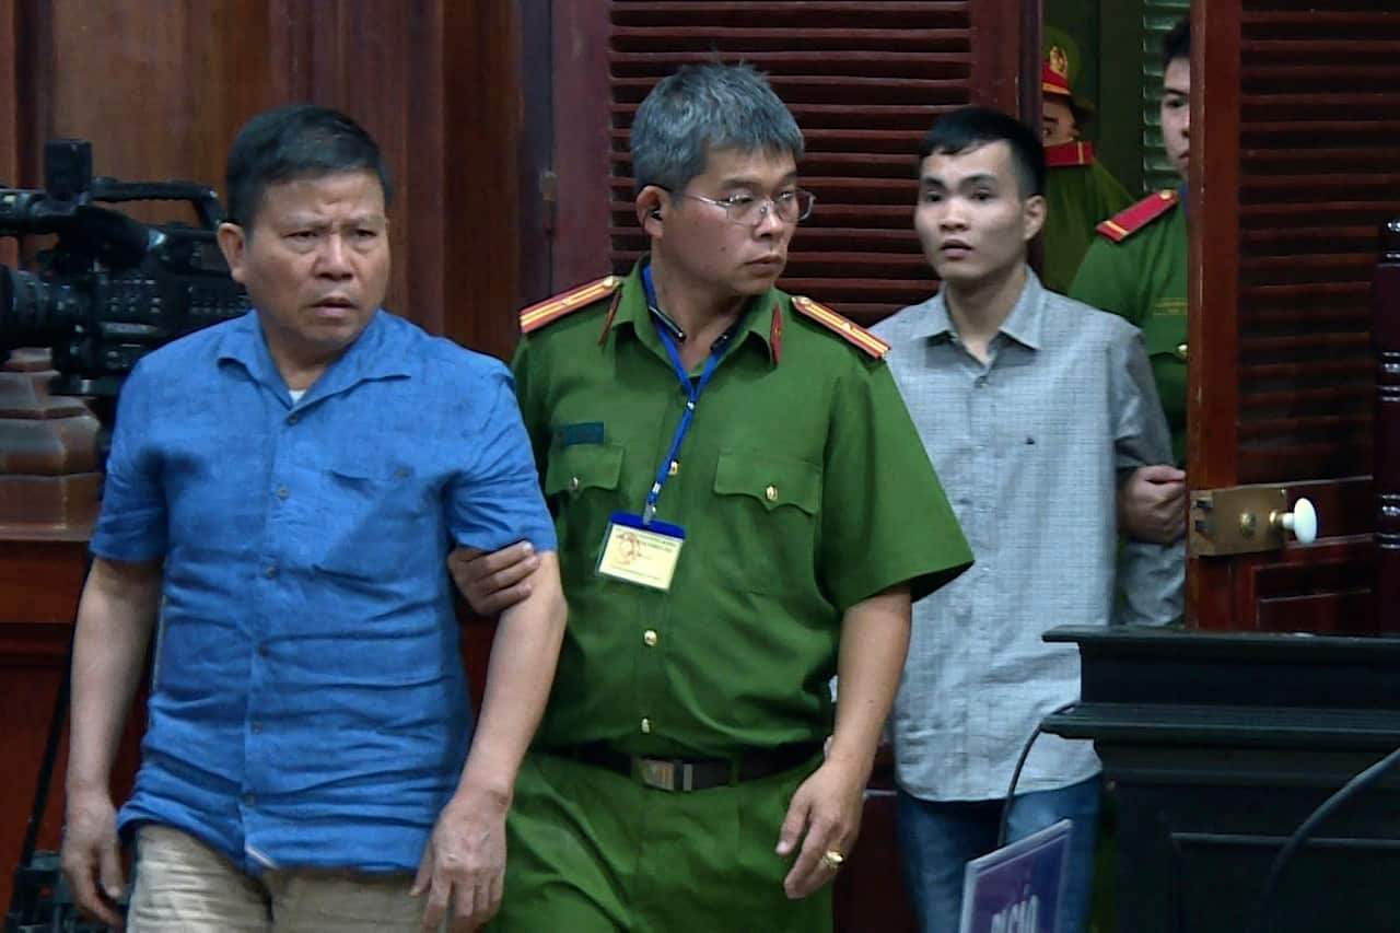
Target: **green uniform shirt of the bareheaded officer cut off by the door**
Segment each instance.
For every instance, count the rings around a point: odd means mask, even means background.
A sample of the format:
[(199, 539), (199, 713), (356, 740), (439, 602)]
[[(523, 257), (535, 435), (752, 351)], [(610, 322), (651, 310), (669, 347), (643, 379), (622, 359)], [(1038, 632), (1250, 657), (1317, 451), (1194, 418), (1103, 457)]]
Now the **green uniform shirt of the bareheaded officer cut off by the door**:
[(1186, 464), (1186, 210), (1177, 205), (1121, 242), (1095, 237), (1070, 297), (1121, 314), (1142, 329), (1156, 392)]

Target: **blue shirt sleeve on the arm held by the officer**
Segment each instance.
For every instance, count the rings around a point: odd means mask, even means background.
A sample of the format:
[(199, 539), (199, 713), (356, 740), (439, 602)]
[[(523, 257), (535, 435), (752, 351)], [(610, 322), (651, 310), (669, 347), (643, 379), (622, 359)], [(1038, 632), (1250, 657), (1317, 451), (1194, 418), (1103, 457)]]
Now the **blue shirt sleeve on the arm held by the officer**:
[(483, 551), (517, 541), (554, 551), (554, 523), (540, 493), (511, 375), (493, 363), (483, 384), (486, 391), (476, 399), (483, 416), (472, 419), (462, 438), (472, 458), (448, 490), (452, 538)]

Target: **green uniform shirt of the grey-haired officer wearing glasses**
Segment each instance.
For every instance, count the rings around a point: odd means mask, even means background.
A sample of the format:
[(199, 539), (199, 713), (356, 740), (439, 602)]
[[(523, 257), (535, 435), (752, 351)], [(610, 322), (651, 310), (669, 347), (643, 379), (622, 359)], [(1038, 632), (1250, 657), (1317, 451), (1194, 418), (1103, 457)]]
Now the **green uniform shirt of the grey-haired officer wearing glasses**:
[(640, 268), (606, 335), (601, 300), (515, 356), (568, 598), (536, 747), (819, 742), (841, 614), (904, 581), (917, 600), (972, 553), (885, 363), (774, 289), (749, 303), (661, 493), (657, 520), (686, 531), (671, 590), (599, 576), (612, 514), (641, 513), (686, 403)]

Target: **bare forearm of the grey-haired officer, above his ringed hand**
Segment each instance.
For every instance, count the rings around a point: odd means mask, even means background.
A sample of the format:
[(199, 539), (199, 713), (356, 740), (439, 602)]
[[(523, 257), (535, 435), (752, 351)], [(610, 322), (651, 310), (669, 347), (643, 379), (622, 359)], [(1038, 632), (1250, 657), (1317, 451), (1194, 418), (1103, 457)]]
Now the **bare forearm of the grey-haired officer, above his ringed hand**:
[(827, 759), (858, 768), (862, 780), (899, 689), (910, 614), (909, 587), (900, 586), (857, 602), (841, 616), (836, 731)]

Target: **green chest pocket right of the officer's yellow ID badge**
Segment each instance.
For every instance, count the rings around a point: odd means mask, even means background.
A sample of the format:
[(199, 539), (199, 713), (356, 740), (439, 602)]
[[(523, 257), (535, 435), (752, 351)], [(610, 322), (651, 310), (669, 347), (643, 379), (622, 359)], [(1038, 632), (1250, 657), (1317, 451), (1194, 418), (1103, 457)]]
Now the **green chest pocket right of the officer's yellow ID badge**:
[[(816, 574), (822, 468), (804, 459), (721, 451), (717, 509), (703, 527), (722, 583), (750, 593), (811, 586)], [(693, 531), (697, 535), (701, 528)]]

